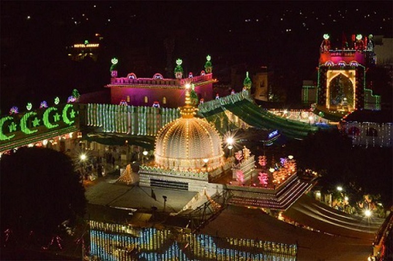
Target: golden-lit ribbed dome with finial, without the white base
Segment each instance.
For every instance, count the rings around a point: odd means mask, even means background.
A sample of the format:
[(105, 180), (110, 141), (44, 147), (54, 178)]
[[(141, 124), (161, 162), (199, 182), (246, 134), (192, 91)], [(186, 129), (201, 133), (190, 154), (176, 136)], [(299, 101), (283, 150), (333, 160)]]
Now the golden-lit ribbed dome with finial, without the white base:
[(168, 123), (157, 134), (154, 151), (157, 165), (184, 170), (216, 168), (223, 164), (220, 135), (206, 119), (194, 118), (195, 111), (187, 91), (182, 118)]

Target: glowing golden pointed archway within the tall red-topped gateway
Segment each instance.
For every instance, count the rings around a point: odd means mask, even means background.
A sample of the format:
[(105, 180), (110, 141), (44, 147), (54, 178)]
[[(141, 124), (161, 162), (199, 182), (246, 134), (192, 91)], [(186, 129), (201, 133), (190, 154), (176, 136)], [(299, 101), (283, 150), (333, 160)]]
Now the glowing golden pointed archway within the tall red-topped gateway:
[[(336, 80), (350, 81), (352, 88), (348, 90), (348, 86), (339, 93), (337, 86), (334, 86)], [(339, 93), (339, 94), (338, 94)], [(333, 96), (334, 95), (334, 96)], [(342, 97), (340, 97), (340, 95)], [(346, 97), (345, 95), (350, 95)], [(341, 99), (342, 98), (342, 99)], [(337, 100), (340, 99), (340, 100)], [(346, 107), (344, 108), (345, 105)], [(337, 106), (338, 105), (338, 106)], [(326, 88), (326, 108), (342, 109), (353, 111), (356, 109), (356, 71), (355, 70), (329, 70), (327, 71), (327, 88)]]

